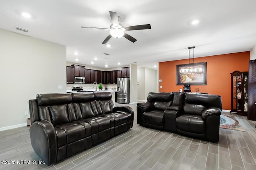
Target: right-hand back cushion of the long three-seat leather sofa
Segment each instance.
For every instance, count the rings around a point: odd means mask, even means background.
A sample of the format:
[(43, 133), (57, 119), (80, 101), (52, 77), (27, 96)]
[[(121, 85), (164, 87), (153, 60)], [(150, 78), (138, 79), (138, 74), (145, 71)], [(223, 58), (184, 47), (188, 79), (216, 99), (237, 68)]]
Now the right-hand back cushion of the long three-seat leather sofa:
[(113, 112), (114, 103), (110, 92), (94, 92), (94, 95), (98, 115)]

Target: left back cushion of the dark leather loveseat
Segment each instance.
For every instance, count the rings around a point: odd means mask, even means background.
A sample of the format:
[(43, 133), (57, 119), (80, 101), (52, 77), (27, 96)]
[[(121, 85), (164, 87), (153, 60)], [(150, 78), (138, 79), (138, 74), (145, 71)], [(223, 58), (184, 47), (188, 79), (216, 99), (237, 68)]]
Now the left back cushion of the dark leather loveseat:
[(148, 93), (147, 102), (154, 104), (154, 109), (165, 110), (172, 105), (173, 93), (166, 92), (150, 92)]

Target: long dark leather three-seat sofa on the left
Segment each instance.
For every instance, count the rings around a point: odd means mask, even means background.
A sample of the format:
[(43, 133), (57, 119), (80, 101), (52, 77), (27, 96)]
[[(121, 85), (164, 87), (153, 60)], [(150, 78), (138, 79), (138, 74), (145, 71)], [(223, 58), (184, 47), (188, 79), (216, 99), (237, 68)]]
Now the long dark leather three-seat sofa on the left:
[(38, 94), (29, 100), (31, 145), (50, 165), (132, 128), (129, 106), (110, 92)]

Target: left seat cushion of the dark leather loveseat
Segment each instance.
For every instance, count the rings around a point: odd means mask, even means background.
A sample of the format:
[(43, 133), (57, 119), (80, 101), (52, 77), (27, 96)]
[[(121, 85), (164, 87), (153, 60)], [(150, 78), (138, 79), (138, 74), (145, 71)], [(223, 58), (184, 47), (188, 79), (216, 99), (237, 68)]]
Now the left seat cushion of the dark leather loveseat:
[(164, 126), (164, 111), (154, 110), (150, 112), (144, 112), (143, 122), (157, 126)]

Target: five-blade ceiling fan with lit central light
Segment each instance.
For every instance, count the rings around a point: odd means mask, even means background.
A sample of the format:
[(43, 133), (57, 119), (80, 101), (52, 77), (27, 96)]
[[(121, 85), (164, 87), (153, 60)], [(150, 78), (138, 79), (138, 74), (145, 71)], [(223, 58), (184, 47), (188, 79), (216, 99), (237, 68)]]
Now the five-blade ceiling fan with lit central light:
[(106, 29), (110, 31), (110, 35), (104, 39), (102, 44), (106, 44), (108, 40), (110, 40), (111, 37), (120, 38), (125, 37), (129, 41), (132, 41), (133, 43), (137, 41), (134, 37), (128, 35), (125, 33), (125, 31), (132, 31), (132, 30), (140, 30), (140, 29), (151, 29), (150, 24), (145, 25), (134, 25), (130, 27), (124, 27), (121, 23), (119, 23), (120, 17), (117, 15), (116, 12), (109, 12), (110, 18), (112, 20), (112, 24), (109, 28), (98, 28), (98, 27), (81, 27), (81, 28), (94, 28), (94, 29)]

